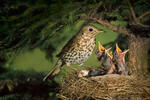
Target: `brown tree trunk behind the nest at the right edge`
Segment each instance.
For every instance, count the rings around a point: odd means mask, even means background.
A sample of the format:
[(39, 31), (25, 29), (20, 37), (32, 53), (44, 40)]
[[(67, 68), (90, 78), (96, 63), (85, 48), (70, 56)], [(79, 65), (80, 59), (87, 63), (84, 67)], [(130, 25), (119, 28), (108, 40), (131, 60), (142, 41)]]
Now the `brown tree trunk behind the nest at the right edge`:
[(128, 41), (129, 66), (133, 73), (148, 72), (149, 39), (131, 34)]

